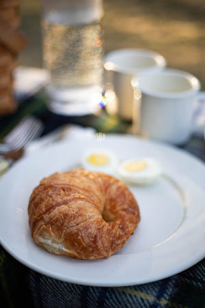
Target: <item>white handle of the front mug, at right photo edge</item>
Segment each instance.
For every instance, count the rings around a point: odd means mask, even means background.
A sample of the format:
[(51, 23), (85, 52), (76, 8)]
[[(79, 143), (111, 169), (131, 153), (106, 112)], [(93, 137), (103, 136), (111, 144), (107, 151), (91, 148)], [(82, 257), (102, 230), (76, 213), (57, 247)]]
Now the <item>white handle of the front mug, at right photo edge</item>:
[(193, 106), (192, 132), (204, 133), (205, 131), (205, 92), (199, 92)]

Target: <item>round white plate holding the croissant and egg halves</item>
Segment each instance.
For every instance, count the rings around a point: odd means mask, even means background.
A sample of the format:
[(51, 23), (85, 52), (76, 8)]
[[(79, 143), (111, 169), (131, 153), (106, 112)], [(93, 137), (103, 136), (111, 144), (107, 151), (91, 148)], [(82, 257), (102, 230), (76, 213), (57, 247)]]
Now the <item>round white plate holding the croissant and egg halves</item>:
[[(141, 222), (118, 253), (94, 261), (52, 255), (31, 239), (29, 196), (42, 177), (74, 168), (81, 153), (96, 146), (113, 150), (120, 159), (136, 155), (159, 159), (165, 176), (150, 186), (130, 187)], [(133, 136), (59, 142), (25, 157), (2, 177), (1, 244), (29, 268), (70, 283), (122, 286), (163, 279), (205, 256), (204, 185), (204, 164), (171, 146)]]

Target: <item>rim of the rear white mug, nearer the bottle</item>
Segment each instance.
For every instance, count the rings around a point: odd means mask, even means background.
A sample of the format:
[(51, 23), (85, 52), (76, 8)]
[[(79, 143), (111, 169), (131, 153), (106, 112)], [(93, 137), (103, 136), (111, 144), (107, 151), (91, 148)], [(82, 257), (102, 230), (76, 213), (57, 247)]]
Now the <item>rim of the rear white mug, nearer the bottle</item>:
[[(125, 68), (122, 66), (122, 64), (116, 63), (115, 59), (117, 57), (121, 56), (123, 57), (129, 57), (131, 55), (138, 55), (138, 56), (145, 56), (149, 59), (154, 60), (154, 64), (151, 66), (148, 66), (146, 68)], [(111, 68), (106, 68), (106, 64), (111, 63)], [(104, 59), (104, 68), (106, 70), (112, 70), (118, 73), (125, 73), (125, 74), (132, 74), (135, 75), (143, 70), (143, 72), (151, 72), (154, 71), (156, 68), (164, 68), (167, 65), (167, 61), (165, 60), (165, 57), (163, 55), (152, 51), (148, 49), (137, 49), (137, 48), (126, 48), (126, 49), (115, 49), (113, 51), (110, 51), (105, 55)]]

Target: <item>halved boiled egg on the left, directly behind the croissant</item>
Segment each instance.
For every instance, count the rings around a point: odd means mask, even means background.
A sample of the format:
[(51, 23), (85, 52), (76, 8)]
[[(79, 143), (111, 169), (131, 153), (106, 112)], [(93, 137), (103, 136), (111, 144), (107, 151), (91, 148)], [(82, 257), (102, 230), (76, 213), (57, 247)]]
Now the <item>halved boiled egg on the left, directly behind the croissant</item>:
[(90, 171), (114, 175), (118, 167), (118, 158), (108, 149), (89, 149), (83, 153), (81, 166)]

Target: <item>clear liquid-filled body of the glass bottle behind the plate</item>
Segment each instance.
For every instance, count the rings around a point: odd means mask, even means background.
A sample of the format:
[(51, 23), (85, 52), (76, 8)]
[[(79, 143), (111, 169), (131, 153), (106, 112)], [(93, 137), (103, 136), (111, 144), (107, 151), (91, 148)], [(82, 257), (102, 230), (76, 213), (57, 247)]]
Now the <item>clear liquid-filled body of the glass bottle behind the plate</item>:
[(44, 19), (44, 67), (51, 83), (50, 109), (83, 115), (99, 109), (102, 100), (103, 47), (99, 21), (68, 24)]

